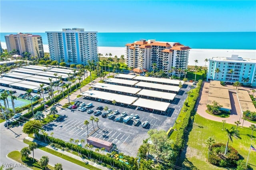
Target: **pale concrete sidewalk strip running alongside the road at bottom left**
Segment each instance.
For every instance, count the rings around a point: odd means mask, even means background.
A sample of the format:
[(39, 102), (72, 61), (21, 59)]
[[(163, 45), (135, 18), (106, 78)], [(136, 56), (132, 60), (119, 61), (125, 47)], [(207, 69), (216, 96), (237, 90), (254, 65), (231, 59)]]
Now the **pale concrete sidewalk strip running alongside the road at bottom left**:
[(101, 165), (96, 164), (95, 162), (92, 162), (92, 161), (87, 160), (87, 159), (82, 159), (80, 156), (77, 156), (77, 155), (72, 154), (72, 153), (70, 153), (70, 152), (67, 152), (67, 151), (65, 151), (65, 150), (54, 149), (54, 148), (52, 148), (51, 146), (49, 146), (48, 144), (46, 144), (46, 143), (44, 143), (44, 142), (41, 142), (41, 141), (39, 141), (39, 140), (36, 140), (36, 139), (34, 139), (34, 138), (30, 138), (29, 136), (25, 137), (25, 139), (30, 140), (30, 141), (32, 141), (32, 142), (36, 142), (37, 144), (40, 144), (40, 145), (42, 145), (42, 146), (45, 146), (46, 148), (52, 149), (52, 150), (54, 150), (54, 151), (56, 151), (56, 152), (59, 152), (59, 153), (61, 153), (61, 154), (64, 154), (64, 155), (69, 156), (69, 157), (71, 157), (71, 158), (74, 158), (74, 159), (79, 160), (79, 161), (81, 161), (81, 162), (84, 162), (84, 163), (86, 163), (86, 164), (90, 164), (91, 166), (94, 166), (94, 167), (99, 168), (99, 169), (101, 169), (101, 170), (109, 170), (109, 169), (106, 168), (105, 166), (101, 166)]

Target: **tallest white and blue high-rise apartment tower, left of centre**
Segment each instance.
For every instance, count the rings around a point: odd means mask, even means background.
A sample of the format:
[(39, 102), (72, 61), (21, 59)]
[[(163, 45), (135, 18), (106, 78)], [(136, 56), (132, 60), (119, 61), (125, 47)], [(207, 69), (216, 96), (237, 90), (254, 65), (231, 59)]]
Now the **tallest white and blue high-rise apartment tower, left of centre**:
[(46, 32), (52, 60), (88, 65), (98, 61), (97, 32), (85, 32), (82, 28), (62, 29), (62, 32)]

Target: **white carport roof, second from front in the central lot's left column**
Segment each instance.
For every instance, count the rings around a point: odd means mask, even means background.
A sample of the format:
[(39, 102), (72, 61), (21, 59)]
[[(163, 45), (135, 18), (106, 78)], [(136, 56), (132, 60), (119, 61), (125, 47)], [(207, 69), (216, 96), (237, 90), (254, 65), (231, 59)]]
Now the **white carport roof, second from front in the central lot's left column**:
[(99, 89), (106, 89), (106, 90), (112, 90), (112, 91), (121, 91), (124, 93), (131, 93), (136, 94), (141, 89), (135, 88), (135, 87), (127, 87), (127, 86), (121, 86), (121, 85), (112, 85), (107, 83), (96, 83), (94, 85), (91, 85), (91, 87), (99, 88)]

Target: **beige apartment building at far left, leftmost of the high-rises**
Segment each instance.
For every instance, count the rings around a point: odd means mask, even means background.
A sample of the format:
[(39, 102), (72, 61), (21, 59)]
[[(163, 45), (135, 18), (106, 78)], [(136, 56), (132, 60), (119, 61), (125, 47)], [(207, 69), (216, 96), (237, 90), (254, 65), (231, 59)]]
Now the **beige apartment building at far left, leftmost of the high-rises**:
[(39, 35), (17, 33), (6, 35), (4, 38), (8, 52), (16, 49), (20, 55), (28, 52), (33, 57), (44, 57), (43, 41)]

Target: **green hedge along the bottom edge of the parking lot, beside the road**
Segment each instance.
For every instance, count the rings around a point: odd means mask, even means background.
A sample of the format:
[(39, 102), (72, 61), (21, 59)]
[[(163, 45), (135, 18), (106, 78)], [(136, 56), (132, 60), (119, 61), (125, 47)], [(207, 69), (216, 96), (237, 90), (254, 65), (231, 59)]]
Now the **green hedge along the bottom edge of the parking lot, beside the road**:
[[(44, 140), (44, 136), (37, 134), (38, 140), (41, 140), (42, 142), (48, 142)], [(94, 160), (102, 160), (103, 163), (105, 164), (113, 164), (117, 168), (124, 168), (124, 169), (129, 169), (129, 170), (136, 170), (138, 169), (137, 166), (137, 160), (134, 157), (131, 156), (124, 156), (124, 159), (128, 161), (129, 164), (125, 164), (124, 162), (120, 162), (116, 160), (115, 158), (109, 157), (108, 155), (105, 154), (100, 154), (98, 152), (94, 152), (93, 150), (88, 150), (86, 148), (82, 148), (81, 146), (78, 146), (77, 144), (73, 144), (70, 142), (65, 142), (64, 140), (54, 138), (52, 136), (47, 136), (48, 140), (51, 141), (54, 144), (59, 144), (63, 148), (69, 148), (70, 150), (78, 150), (79, 152), (85, 156), (87, 159), (94, 159)], [(49, 143), (49, 142), (48, 142)], [(90, 156), (90, 158), (89, 158)], [(111, 162), (111, 163), (110, 163)]]

